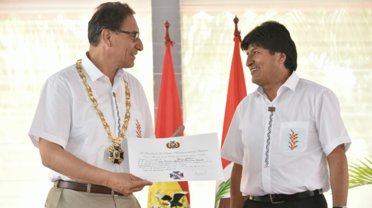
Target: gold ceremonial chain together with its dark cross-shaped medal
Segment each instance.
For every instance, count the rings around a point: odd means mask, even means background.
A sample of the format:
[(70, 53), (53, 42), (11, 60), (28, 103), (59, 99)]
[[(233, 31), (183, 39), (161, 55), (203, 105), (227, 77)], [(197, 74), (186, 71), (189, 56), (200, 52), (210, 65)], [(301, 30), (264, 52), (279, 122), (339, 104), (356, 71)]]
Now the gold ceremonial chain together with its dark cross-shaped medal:
[(124, 117), (124, 123), (122, 127), (122, 133), (120, 134), (120, 137), (115, 137), (111, 135), (111, 130), (109, 124), (106, 122), (105, 117), (103, 116), (102, 111), (98, 108), (97, 100), (94, 98), (93, 93), (92, 93), (92, 88), (88, 85), (86, 82), (86, 77), (82, 71), (81, 68), (81, 59), (77, 60), (75, 63), (76, 65), (76, 70), (77, 73), (80, 75), (80, 78), (83, 80), (83, 83), (85, 85), (86, 91), (88, 92), (88, 96), (90, 100), (92, 101), (94, 107), (97, 110), (97, 113), (102, 121), (103, 126), (105, 127), (107, 134), (112, 138), (112, 141), (115, 143), (110, 149), (109, 149), (109, 159), (113, 164), (117, 163), (120, 164), (124, 160), (123, 155), (124, 152), (121, 149), (120, 145), (121, 142), (120, 140), (124, 138), (126, 130), (128, 129), (128, 124), (129, 124), (129, 119), (130, 119), (130, 91), (129, 91), (129, 86), (128, 82), (124, 80), (124, 85), (125, 85), (125, 106), (126, 106), (126, 112), (125, 112), (125, 117)]

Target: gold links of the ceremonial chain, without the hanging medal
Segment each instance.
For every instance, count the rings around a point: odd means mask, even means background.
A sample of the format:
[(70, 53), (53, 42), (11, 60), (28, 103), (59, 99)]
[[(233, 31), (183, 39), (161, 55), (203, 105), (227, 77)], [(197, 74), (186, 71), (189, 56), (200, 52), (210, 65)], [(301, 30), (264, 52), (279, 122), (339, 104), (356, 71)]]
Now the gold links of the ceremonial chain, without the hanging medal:
[(112, 138), (112, 141), (115, 142), (115, 146), (118, 146), (121, 144), (120, 140), (124, 138), (126, 130), (128, 129), (128, 124), (129, 124), (129, 119), (130, 119), (130, 91), (129, 91), (129, 86), (128, 82), (124, 80), (124, 85), (125, 85), (125, 106), (126, 106), (126, 112), (124, 116), (124, 124), (122, 127), (122, 133), (120, 134), (121, 137), (114, 137), (111, 135), (111, 130), (109, 124), (106, 122), (105, 117), (103, 116), (102, 111), (98, 108), (97, 100), (94, 98), (93, 93), (92, 93), (92, 88), (88, 85), (86, 82), (86, 77), (83, 73), (83, 70), (81, 68), (81, 59), (77, 60), (75, 63), (76, 65), (76, 70), (77, 73), (80, 75), (80, 78), (83, 80), (83, 83), (85, 85), (86, 91), (88, 92), (88, 96), (90, 100), (92, 101), (94, 107), (97, 110), (97, 113), (102, 121), (103, 127), (105, 127), (107, 134)]

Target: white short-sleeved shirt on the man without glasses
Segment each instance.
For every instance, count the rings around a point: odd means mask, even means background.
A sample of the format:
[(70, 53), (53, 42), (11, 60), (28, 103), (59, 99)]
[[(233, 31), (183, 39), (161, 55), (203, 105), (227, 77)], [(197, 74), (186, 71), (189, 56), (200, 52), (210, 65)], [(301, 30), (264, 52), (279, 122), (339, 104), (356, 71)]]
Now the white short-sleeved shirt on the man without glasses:
[(293, 72), (272, 102), (262, 87), (243, 99), (221, 156), (243, 165), (245, 196), (328, 191), (326, 156), (341, 144), (351, 140), (336, 95)]

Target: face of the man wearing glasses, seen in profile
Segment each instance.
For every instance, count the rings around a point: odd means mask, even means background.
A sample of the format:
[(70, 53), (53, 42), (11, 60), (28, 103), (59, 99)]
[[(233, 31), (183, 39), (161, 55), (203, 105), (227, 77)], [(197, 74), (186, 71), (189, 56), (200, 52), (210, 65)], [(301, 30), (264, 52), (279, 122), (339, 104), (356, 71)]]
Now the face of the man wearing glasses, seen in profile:
[[(133, 15), (128, 15), (124, 20), (124, 26), (120, 29), (126, 32), (139, 32), (137, 22)], [(131, 68), (134, 66), (135, 55), (143, 50), (143, 44), (138, 37), (135, 42), (134, 35), (119, 33), (111, 38), (113, 60), (120, 68)]]

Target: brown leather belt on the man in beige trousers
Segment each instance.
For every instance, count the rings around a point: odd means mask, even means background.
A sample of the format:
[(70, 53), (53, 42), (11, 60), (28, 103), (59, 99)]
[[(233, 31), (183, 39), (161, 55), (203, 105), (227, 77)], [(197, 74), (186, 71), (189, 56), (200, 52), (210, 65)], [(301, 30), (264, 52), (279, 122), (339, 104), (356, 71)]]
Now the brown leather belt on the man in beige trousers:
[[(57, 187), (62, 188), (62, 189), (71, 189), (74, 191), (88, 192), (88, 184), (77, 183), (77, 182), (72, 182), (72, 181), (60, 180)], [(93, 184), (90, 186), (90, 193), (110, 194), (113, 196), (124, 196), (123, 194), (116, 192), (113, 189), (110, 189), (109, 187), (93, 185)]]

